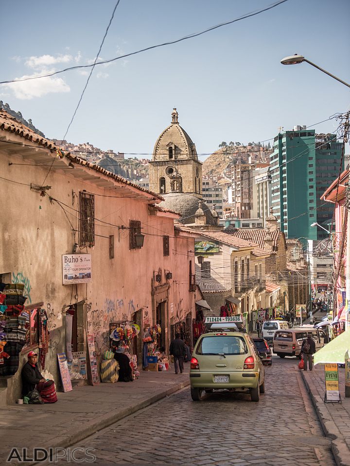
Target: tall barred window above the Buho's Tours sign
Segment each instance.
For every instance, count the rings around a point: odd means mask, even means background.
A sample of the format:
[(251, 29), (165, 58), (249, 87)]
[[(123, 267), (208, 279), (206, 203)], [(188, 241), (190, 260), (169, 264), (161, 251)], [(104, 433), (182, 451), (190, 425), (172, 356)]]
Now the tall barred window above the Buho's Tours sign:
[(95, 244), (95, 197), (85, 191), (79, 193), (79, 245)]

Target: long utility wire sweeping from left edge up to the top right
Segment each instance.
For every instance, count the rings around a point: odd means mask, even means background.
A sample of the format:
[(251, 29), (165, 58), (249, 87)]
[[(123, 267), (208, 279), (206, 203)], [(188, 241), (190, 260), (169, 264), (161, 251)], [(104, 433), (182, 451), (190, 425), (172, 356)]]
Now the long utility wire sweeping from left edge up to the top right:
[(176, 44), (178, 42), (182, 42), (183, 40), (192, 39), (193, 37), (198, 37), (199, 35), (208, 33), (210, 31), (213, 31), (214, 29), (218, 29), (218, 28), (221, 28), (223, 26), (227, 26), (228, 24), (235, 23), (236, 21), (241, 21), (242, 19), (246, 19), (246, 18), (249, 18), (249, 17), (252, 17), (252, 16), (259, 15), (260, 13), (263, 13), (264, 11), (271, 10), (272, 8), (275, 8), (276, 6), (280, 5), (281, 3), (284, 3), (285, 1), (287, 1), (287, 0), (280, 0), (280, 1), (276, 2), (276, 3), (273, 3), (270, 6), (262, 8), (261, 10), (254, 11), (254, 12), (251, 12), (251, 13), (247, 13), (246, 15), (243, 15), (243, 16), (238, 17), (236, 19), (232, 19), (230, 21), (225, 21), (224, 23), (218, 24), (216, 26), (211, 26), (210, 28), (205, 29), (204, 31), (201, 31), (199, 33), (192, 33), (192, 34), (186, 35), (185, 37), (182, 37), (180, 39), (175, 39), (175, 40), (172, 40), (172, 41), (169, 41), (169, 42), (164, 42), (162, 44), (157, 44), (157, 45), (153, 45), (151, 47), (146, 47), (145, 49), (140, 49), (140, 50), (137, 50), (135, 52), (126, 53), (124, 55), (120, 55), (118, 57), (111, 58), (109, 60), (103, 60), (101, 62), (98, 62), (98, 63), (94, 64), (94, 65), (79, 65), (79, 66), (76, 66), (76, 67), (68, 67), (68, 68), (65, 68), (65, 69), (61, 69), (59, 71), (54, 71), (53, 73), (43, 74), (43, 75), (40, 75), (40, 76), (32, 76), (32, 77), (29, 77), (29, 78), (21, 78), (21, 79), (13, 79), (13, 80), (10, 80), (10, 81), (0, 81), (0, 84), (18, 83), (18, 82), (21, 82), (21, 81), (29, 81), (29, 80), (32, 80), (32, 79), (47, 78), (49, 76), (54, 76), (54, 75), (59, 74), (59, 73), (64, 73), (65, 71), (70, 71), (72, 69), (89, 68), (89, 67), (94, 67), (95, 65), (104, 65), (105, 63), (111, 63), (111, 62), (114, 62), (116, 60), (121, 60), (122, 58), (130, 57), (131, 55), (137, 55), (138, 53), (145, 52), (147, 50), (157, 49), (159, 47), (164, 47), (164, 46), (167, 46), (167, 45), (172, 45), (172, 44)]

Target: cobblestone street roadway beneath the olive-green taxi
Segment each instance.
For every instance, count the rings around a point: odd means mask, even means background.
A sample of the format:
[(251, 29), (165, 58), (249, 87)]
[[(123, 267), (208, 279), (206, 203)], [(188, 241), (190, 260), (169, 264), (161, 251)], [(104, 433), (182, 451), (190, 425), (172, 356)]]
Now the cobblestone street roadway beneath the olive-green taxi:
[(77, 447), (95, 449), (96, 465), (335, 465), (297, 360), (274, 357), (265, 374), (259, 403), (228, 392), (193, 402), (185, 388)]

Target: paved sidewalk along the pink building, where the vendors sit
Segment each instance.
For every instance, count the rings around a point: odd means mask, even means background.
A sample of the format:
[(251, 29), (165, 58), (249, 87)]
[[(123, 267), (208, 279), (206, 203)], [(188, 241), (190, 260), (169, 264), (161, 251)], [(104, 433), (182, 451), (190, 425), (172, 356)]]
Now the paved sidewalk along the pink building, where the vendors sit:
[(5, 464), (14, 447), (73, 445), (189, 385), (189, 371), (189, 363), (185, 363), (184, 373), (177, 375), (173, 365), (166, 372), (140, 371), (134, 382), (85, 385), (57, 393), (57, 403), (0, 408), (0, 464)]

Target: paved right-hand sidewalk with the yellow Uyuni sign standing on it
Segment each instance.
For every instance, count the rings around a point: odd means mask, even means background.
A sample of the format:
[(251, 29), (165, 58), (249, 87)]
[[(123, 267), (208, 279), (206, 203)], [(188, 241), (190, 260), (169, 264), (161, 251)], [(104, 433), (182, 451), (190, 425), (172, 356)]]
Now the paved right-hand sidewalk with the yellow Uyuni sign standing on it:
[(345, 398), (345, 369), (339, 367), (340, 403), (324, 403), (324, 365), (314, 366), (312, 372), (301, 370), (306, 388), (314, 403), (317, 416), (327, 437), (332, 439), (332, 451), (338, 466), (350, 465), (350, 398)]

